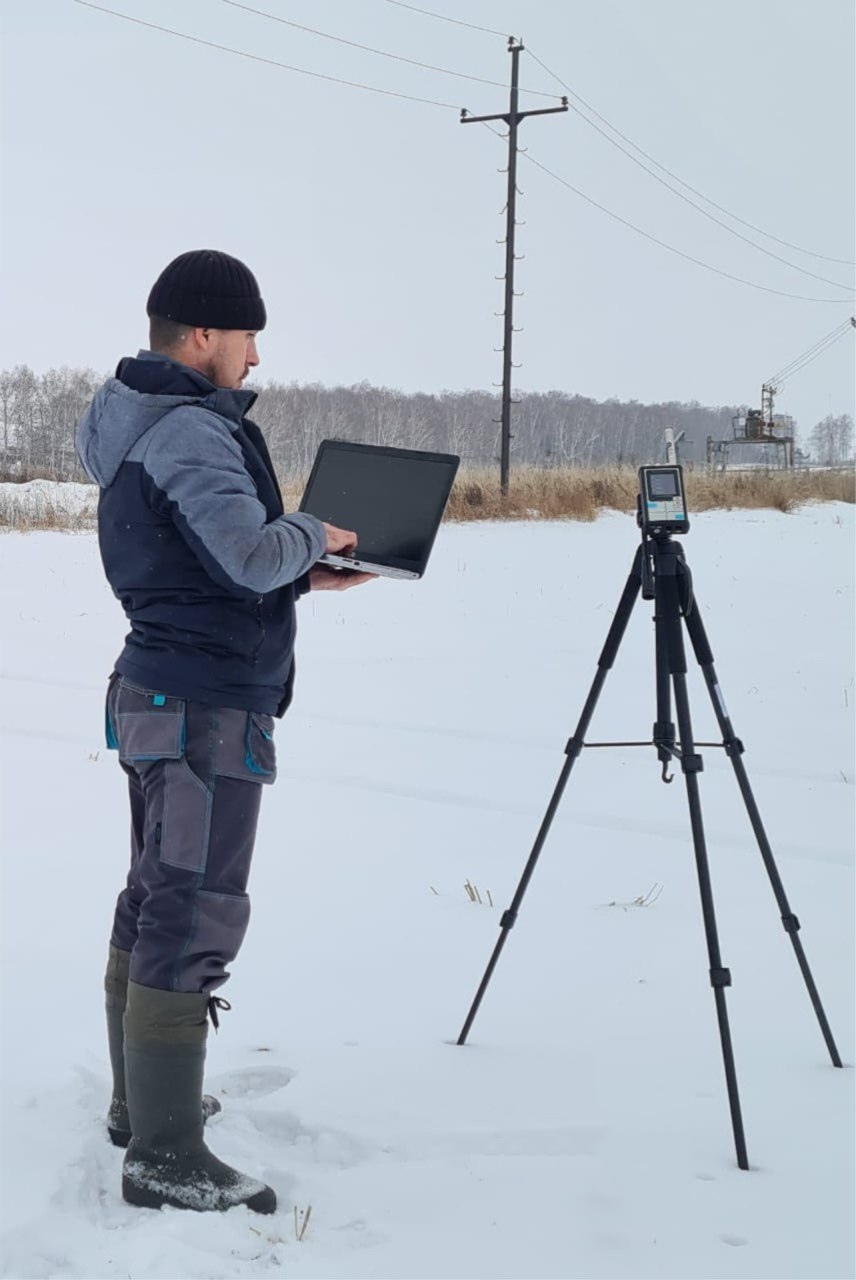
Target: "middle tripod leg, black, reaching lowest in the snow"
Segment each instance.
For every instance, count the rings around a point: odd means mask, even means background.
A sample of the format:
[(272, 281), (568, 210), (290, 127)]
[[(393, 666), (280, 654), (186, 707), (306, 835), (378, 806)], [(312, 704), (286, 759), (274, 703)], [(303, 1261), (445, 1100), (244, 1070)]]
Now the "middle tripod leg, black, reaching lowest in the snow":
[[(672, 684), (674, 689), (674, 709), (678, 718), (681, 769), (687, 785), (692, 846), (696, 856), (699, 891), (701, 893), (701, 913), (704, 916), (705, 937), (708, 940), (708, 957), (710, 961), (710, 986), (713, 987), (714, 1001), (717, 1005), (719, 1041), (722, 1043), (722, 1056), (725, 1068), (728, 1106), (731, 1108), (731, 1124), (734, 1134), (737, 1165), (740, 1169), (749, 1169), (746, 1137), (743, 1134), (743, 1117), (741, 1114), (740, 1093), (737, 1088), (737, 1071), (734, 1069), (734, 1051), (732, 1048), (728, 1009), (725, 1006), (725, 987), (731, 987), (731, 972), (723, 965), (719, 954), (717, 915), (714, 910), (713, 887), (710, 883), (710, 868), (708, 865), (704, 823), (701, 819), (699, 774), (702, 769), (702, 759), (696, 754), (695, 741), (692, 737), (692, 722), (690, 718), (690, 699), (687, 696), (686, 675), (687, 662), (683, 648), (683, 632), (681, 631), (681, 604), (677, 580), (678, 554), (679, 547), (677, 543), (669, 543), (665, 547), (658, 548), (658, 552), (655, 553), (654, 582), (656, 591), (656, 614), (654, 623), (659, 630), (663, 630), (665, 635), (665, 649), (668, 652), (669, 671), (672, 673)], [(660, 646), (658, 646), (658, 654), (659, 653)]]

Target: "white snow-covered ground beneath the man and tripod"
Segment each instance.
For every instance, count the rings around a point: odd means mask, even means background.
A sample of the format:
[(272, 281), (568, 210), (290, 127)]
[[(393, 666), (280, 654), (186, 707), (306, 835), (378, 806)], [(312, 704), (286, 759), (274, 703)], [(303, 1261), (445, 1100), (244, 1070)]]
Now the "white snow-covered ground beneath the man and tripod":
[[(101, 980), (127, 859), (102, 742), (124, 620), (92, 534), (0, 538), (3, 1276), (853, 1276), (852, 507), (714, 512), (683, 539), (844, 1069), (720, 750), (701, 797), (751, 1170), (686, 791), (653, 750), (583, 753), (454, 1043), (636, 540), (617, 515), (445, 526), (422, 582), (302, 603), (207, 1064), (212, 1149), (280, 1197), (258, 1219), (122, 1202)], [(590, 740), (650, 735), (650, 616), (640, 603)], [(690, 689), (696, 737), (717, 740), (695, 663)]]

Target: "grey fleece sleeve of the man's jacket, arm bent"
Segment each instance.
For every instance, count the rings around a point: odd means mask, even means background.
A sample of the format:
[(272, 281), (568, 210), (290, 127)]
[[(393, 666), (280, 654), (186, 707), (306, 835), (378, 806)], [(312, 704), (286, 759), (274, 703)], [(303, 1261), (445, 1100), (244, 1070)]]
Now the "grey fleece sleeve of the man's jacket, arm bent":
[(326, 550), (315, 516), (267, 521), (241, 447), (216, 413), (169, 413), (150, 433), (142, 463), (215, 581), (261, 595), (302, 577)]

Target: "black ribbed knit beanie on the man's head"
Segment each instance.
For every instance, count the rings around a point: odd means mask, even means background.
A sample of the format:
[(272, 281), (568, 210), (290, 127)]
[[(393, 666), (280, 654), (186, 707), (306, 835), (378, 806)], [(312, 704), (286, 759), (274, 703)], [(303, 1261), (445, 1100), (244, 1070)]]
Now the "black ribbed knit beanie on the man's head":
[(267, 320), (250, 268), (214, 248), (173, 259), (152, 285), (146, 314), (201, 329), (264, 329)]

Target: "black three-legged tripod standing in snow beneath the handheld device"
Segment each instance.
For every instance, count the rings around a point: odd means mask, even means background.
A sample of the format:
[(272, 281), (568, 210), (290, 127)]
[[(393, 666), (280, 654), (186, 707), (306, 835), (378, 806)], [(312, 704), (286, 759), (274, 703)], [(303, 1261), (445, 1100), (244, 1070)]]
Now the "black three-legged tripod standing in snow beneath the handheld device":
[[(624, 634), (624, 628), (627, 627), (633, 605), (638, 598), (640, 590), (642, 599), (654, 600), (656, 722), (654, 724), (653, 742), (585, 742), (583, 739), (589, 728), (589, 723), (595, 707), (598, 705), (598, 699), (606, 680), (606, 675), (615, 660), (618, 646)], [(746, 1138), (743, 1135), (743, 1120), (737, 1089), (737, 1073), (734, 1070), (734, 1055), (732, 1051), (731, 1029), (728, 1025), (728, 1009), (725, 1006), (725, 987), (731, 986), (731, 973), (723, 965), (719, 954), (717, 918), (714, 911), (705, 832), (701, 820), (701, 805), (699, 799), (699, 774), (702, 771), (702, 759), (697, 754), (696, 744), (692, 739), (692, 723), (690, 719), (690, 701), (686, 682), (687, 660), (683, 646), (683, 631), (681, 627), (682, 620), (686, 623), (696, 660), (704, 673), (708, 692), (710, 694), (710, 700), (717, 716), (717, 722), (723, 735), (722, 742), (702, 742), (697, 745), (722, 746), (731, 759), (737, 777), (737, 785), (743, 797), (761, 858), (764, 859), (764, 867), (766, 868), (766, 874), (769, 876), (770, 884), (773, 886), (773, 893), (775, 895), (775, 900), (779, 906), (782, 924), (784, 925), (784, 932), (788, 934), (793, 945), (793, 951), (802, 972), (814, 1011), (818, 1016), (820, 1030), (823, 1032), (823, 1037), (827, 1042), (829, 1056), (833, 1066), (842, 1065), (832, 1030), (829, 1029), (829, 1023), (827, 1021), (827, 1015), (824, 1014), (823, 1005), (820, 1004), (818, 988), (815, 987), (811, 970), (809, 969), (809, 963), (802, 950), (802, 942), (800, 941), (800, 922), (788, 905), (784, 887), (773, 858), (773, 850), (770, 849), (770, 844), (766, 838), (761, 815), (755, 803), (749, 777), (743, 767), (743, 744), (736, 736), (728, 712), (725, 710), (725, 701), (717, 680), (717, 672), (714, 671), (713, 653), (708, 643), (704, 623), (696, 607), (692, 590), (692, 576), (685, 559), (683, 549), (679, 543), (672, 540), (670, 534), (649, 534), (646, 530), (642, 531), (642, 544), (636, 550), (630, 576), (624, 585), (623, 594), (618, 603), (618, 609), (615, 611), (615, 617), (613, 618), (606, 636), (606, 643), (603, 648), (600, 658), (598, 659), (598, 673), (582, 709), (580, 723), (577, 724), (573, 737), (568, 740), (564, 749), (567, 759), (562, 768), (562, 773), (559, 774), (559, 781), (557, 782), (553, 796), (550, 797), (550, 803), (541, 822), (532, 851), (530, 852), (528, 861), (523, 869), (523, 876), (517, 886), (517, 892), (514, 893), (511, 906), (503, 913), (499, 922), (499, 940), (494, 947), (485, 975), (481, 979), (481, 986), (476, 992), (467, 1020), (458, 1037), (458, 1044), (464, 1044), (467, 1036), (470, 1034), (470, 1028), (472, 1027), (479, 1006), (481, 1005), (481, 1000), (487, 989), (487, 983), (490, 982), (505, 941), (508, 940), (509, 929), (513, 928), (517, 920), (523, 895), (526, 893), (528, 882), (535, 872), (535, 865), (555, 817), (566, 783), (583, 746), (653, 745), (656, 748), (656, 755), (663, 767), (663, 781), (672, 781), (668, 774), (668, 767), (672, 760), (678, 762), (686, 778), (687, 801), (690, 805), (690, 826), (692, 829), (692, 845), (695, 849), (699, 890), (701, 893), (701, 910), (704, 915), (708, 956), (710, 961), (710, 986), (713, 987), (717, 1005), (717, 1019), (719, 1023), (719, 1039), (722, 1042), (722, 1056), (725, 1068), (725, 1083), (728, 1087), (728, 1105), (731, 1108), (732, 1129), (734, 1134), (734, 1148), (740, 1169), (749, 1169)], [(674, 707), (678, 721), (677, 736), (676, 727), (672, 721), (672, 690), (674, 691)]]

